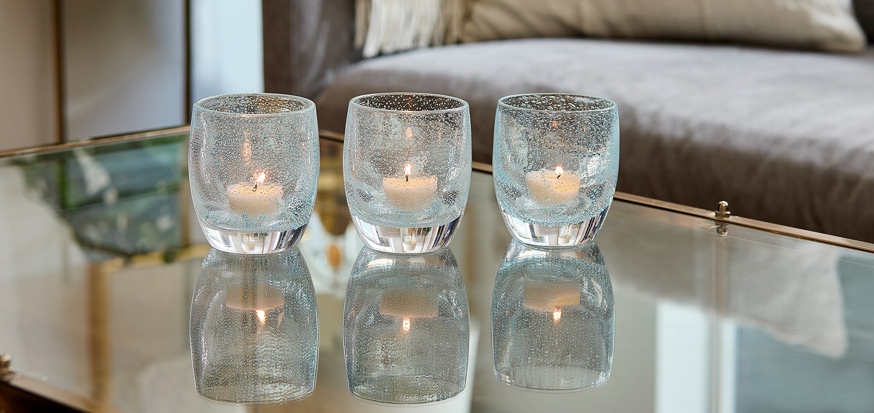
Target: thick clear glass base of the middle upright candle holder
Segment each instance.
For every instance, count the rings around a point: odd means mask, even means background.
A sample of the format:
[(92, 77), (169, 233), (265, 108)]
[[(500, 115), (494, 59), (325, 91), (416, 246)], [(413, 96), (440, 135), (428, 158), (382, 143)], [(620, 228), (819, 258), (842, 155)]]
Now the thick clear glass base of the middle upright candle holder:
[(461, 217), (449, 224), (425, 228), (393, 228), (368, 224), (356, 216), (352, 216), (358, 237), (369, 248), (376, 251), (420, 254), (440, 250), (452, 241)]

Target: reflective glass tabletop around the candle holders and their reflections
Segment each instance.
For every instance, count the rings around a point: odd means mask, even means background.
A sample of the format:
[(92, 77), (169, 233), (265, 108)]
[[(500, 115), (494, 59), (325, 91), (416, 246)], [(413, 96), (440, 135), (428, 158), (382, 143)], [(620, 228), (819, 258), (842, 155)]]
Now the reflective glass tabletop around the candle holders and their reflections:
[[(198, 396), (189, 329), (210, 248), (191, 208), (187, 145), (177, 128), (0, 157), (0, 354), (11, 356), (0, 410), (17, 411), (21, 394), (85, 411), (399, 409), (350, 394), (343, 300), (363, 244), (345, 207), (342, 143), (329, 138), (298, 245), (317, 301), (315, 391), (261, 405)], [(600, 253), (589, 252), (603, 258), (612, 288), (601, 297), (613, 316), (609, 380), (534, 392), (496, 378), (493, 293), (507, 293), (494, 291), (496, 276), (518, 274), (498, 273), (510, 235), (491, 176), (475, 170), (449, 247), (468, 299), (467, 384), (447, 401), (405, 408), (874, 411), (874, 245), (623, 199), (596, 238)], [(538, 254), (548, 255), (522, 253)], [(548, 345), (551, 331), (514, 334)]]

